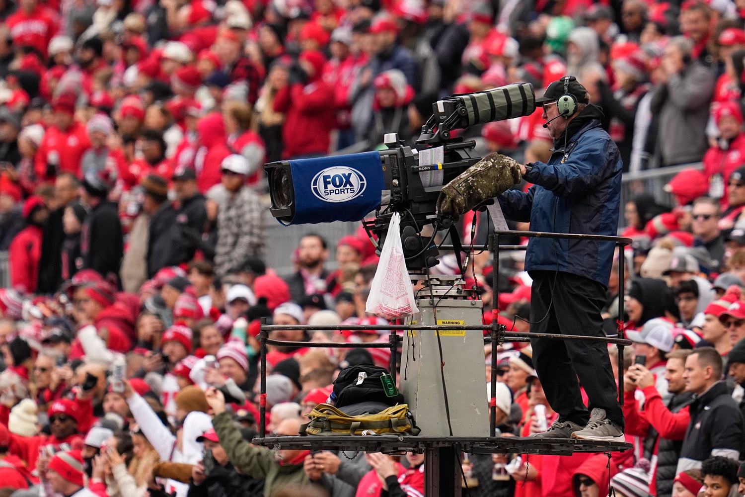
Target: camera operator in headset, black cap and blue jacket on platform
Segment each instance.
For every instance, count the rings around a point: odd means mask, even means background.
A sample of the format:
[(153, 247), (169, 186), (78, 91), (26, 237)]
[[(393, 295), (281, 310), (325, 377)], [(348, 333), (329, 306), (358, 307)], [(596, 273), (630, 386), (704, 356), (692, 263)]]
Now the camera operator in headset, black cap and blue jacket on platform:
[[(589, 93), (572, 76), (551, 83), (536, 105), (543, 107), (554, 153), (548, 163), (520, 166), (534, 186), (527, 193), (502, 194), (504, 214), (530, 221), (533, 231), (615, 235), (622, 164), (618, 147), (600, 127), (603, 113), (589, 104)], [(612, 242), (530, 238), (525, 255), (533, 279), (530, 331), (605, 336), (600, 310), (613, 251)], [(533, 436), (623, 442), (624, 415), (605, 344), (546, 338), (531, 344), (546, 398), (559, 413), (548, 431)]]

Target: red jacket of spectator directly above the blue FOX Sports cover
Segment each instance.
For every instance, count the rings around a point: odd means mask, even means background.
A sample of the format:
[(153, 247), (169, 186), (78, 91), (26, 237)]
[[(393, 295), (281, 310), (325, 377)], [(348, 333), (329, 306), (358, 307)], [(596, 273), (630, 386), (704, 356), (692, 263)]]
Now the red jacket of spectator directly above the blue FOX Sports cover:
[(295, 83), (277, 92), (274, 111), (286, 113), (282, 139), (285, 158), (328, 153), (334, 123), (334, 89), (317, 78), (305, 86)]

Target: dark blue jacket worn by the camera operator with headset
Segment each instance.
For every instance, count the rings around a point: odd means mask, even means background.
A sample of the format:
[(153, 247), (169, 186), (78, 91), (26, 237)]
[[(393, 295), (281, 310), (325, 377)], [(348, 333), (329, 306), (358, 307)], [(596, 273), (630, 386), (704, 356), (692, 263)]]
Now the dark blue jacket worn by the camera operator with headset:
[[(524, 175), (533, 183), (527, 193), (507, 190), (499, 203), (507, 218), (530, 221), (532, 231), (615, 236), (621, 168), (618, 147), (593, 119), (548, 164), (533, 163)], [(607, 286), (614, 248), (611, 241), (530, 238), (525, 270), (565, 271)]]

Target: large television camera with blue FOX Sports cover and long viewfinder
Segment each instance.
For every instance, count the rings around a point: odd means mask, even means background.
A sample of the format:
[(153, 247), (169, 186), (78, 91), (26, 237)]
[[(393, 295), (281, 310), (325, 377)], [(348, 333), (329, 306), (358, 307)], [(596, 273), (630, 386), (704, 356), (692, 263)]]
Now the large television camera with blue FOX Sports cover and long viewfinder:
[[(454, 138), (453, 130), (530, 115), (536, 108), (530, 83), (513, 83), (484, 92), (451, 95), (432, 104), (433, 115), (416, 140), (405, 145), (396, 133), (385, 136), (387, 150), (264, 165), (270, 212), (282, 224), (364, 221), (372, 239), (384, 241), (390, 218), (401, 215), (402, 244), (410, 272), (437, 265), (434, 234), (451, 219), (437, 215), (442, 187), (481, 160), (474, 141)], [(431, 237), (422, 227), (434, 225)]]

